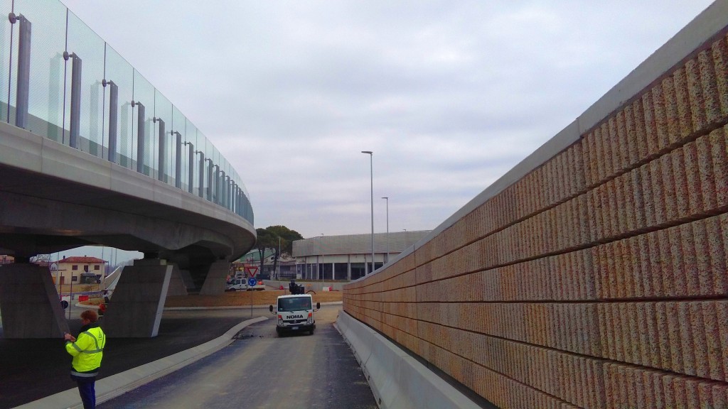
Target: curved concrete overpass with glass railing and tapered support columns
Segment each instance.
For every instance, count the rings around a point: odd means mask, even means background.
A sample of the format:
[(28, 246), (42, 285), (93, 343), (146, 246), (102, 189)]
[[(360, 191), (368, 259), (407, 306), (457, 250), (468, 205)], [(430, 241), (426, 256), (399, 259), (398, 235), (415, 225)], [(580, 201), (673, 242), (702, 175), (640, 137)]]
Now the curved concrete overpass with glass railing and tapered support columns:
[(16, 259), (0, 268), (4, 334), (68, 328), (50, 275), (29, 258), (105, 245), (144, 253), (116, 287), (109, 335), (154, 336), (167, 294), (221, 293), (229, 261), (253, 247), (245, 185), (60, 1), (1, 7), (12, 36), (0, 46), (11, 79), (0, 90), (0, 253)]

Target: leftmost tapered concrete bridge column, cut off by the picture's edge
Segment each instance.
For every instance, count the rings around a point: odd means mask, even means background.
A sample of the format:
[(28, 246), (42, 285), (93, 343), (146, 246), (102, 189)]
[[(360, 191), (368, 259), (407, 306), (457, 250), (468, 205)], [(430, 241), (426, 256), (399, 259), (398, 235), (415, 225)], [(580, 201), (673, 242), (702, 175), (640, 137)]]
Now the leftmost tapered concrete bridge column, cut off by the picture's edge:
[(16, 263), (0, 267), (4, 338), (63, 338), (68, 322), (47, 268)]

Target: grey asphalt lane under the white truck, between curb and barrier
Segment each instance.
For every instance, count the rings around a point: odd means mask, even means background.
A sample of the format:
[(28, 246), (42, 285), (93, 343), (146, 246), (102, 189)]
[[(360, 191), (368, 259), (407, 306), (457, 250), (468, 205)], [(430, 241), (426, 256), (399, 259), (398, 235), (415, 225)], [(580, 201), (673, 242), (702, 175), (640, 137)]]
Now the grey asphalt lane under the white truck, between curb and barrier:
[(359, 365), (333, 327), (340, 310), (317, 311), (314, 335), (279, 338), (272, 319), (250, 325), (230, 346), (98, 408), (376, 409)]

